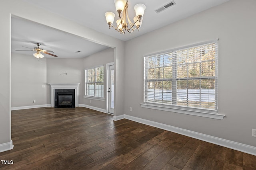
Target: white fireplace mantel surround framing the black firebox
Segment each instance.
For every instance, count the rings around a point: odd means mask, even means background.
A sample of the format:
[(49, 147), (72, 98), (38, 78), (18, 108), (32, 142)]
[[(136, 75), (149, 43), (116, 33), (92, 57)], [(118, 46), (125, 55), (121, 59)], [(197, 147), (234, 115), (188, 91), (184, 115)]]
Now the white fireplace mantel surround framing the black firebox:
[(78, 97), (79, 97), (79, 84), (80, 83), (72, 83), (72, 84), (55, 84), (49, 83), (51, 85), (51, 104), (54, 107), (54, 98), (55, 98), (55, 89), (74, 89), (75, 90), (75, 107), (78, 107)]

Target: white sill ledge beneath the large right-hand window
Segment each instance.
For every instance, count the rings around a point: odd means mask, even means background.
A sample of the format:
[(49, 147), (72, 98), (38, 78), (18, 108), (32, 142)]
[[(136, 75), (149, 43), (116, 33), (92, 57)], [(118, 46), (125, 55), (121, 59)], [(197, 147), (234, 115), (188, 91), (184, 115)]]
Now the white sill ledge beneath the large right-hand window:
[(192, 110), (192, 109), (171, 108), (171, 107), (160, 106), (160, 105), (156, 105), (156, 104), (142, 103), (142, 104), (140, 104), (140, 106), (144, 107), (144, 108), (148, 108), (148, 109), (171, 111), (171, 112), (175, 112), (175, 113), (195, 115), (195, 116), (200, 116), (200, 117), (208, 117), (208, 118), (220, 119), (220, 120), (223, 120), (224, 116), (226, 116), (226, 115), (221, 115), (218, 113), (211, 113), (210, 111), (208, 112), (208, 111), (197, 111), (197, 110)]

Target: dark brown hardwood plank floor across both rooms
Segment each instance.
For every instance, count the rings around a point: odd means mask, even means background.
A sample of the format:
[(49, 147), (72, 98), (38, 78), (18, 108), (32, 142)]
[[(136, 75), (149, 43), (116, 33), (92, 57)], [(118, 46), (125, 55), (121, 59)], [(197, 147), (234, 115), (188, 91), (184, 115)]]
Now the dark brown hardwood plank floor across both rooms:
[(12, 111), (11, 170), (256, 170), (256, 156), (77, 107)]

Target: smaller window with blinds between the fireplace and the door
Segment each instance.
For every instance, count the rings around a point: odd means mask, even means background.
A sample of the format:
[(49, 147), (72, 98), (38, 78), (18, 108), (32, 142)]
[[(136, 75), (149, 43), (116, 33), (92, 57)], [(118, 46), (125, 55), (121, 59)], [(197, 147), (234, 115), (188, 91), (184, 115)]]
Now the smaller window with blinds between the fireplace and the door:
[(85, 70), (85, 95), (104, 98), (104, 66)]

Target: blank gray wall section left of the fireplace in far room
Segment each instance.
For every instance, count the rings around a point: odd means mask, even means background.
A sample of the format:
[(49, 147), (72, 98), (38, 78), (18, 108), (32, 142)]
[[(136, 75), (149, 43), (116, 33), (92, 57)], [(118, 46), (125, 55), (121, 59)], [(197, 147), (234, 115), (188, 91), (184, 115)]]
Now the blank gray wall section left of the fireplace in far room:
[(11, 61), (11, 107), (45, 105), (46, 58), (12, 53)]

